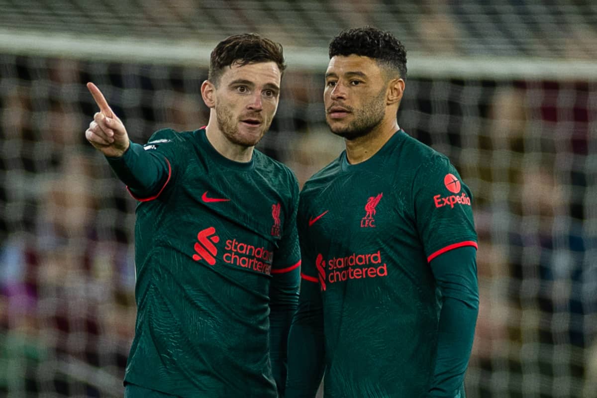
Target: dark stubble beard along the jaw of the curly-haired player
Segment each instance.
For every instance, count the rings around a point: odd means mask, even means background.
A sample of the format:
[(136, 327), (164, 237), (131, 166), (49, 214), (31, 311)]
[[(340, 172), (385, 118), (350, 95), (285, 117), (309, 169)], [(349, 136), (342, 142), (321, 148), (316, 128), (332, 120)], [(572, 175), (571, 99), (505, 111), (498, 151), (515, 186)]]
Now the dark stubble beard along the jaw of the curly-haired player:
[(385, 97), (384, 89), (372, 101), (365, 103), (361, 109), (353, 111), (355, 118), (345, 127), (334, 129), (328, 122), (330, 131), (349, 141), (369, 134), (383, 121), (386, 112)]

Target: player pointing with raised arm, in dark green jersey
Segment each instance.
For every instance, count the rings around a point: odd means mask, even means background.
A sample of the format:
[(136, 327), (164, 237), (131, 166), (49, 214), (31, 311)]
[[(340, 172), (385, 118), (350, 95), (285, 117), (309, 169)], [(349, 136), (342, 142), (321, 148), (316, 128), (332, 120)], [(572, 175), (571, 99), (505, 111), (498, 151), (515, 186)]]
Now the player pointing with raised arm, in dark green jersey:
[[(125, 397), (278, 397), (296, 310), (294, 174), (254, 149), (276, 113), (282, 46), (224, 39), (201, 86), (207, 127), (131, 143), (99, 89), (85, 132), (139, 200), (137, 322)], [(277, 388), (276, 388), (277, 387)]]

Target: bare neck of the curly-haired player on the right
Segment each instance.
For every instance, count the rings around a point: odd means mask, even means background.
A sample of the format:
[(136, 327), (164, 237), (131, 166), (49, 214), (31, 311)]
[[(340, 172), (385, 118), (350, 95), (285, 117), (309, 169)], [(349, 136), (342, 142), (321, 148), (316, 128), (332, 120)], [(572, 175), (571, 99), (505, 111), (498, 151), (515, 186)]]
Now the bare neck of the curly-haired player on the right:
[(344, 140), (346, 144), (346, 158), (351, 165), (367, 161), (375, 155), (392, 135), (398, 131), (396, 118), (386, 121), (385, 119), (373, 128), (370, 132), (354, 140)]

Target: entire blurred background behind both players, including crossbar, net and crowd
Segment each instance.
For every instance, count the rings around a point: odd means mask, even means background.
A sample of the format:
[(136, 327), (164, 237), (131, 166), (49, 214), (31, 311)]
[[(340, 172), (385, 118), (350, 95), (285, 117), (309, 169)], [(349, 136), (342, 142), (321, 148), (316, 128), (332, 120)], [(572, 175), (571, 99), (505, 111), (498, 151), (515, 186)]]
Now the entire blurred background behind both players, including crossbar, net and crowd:
[(327, 44), (408, 51), (399, 124), (475, 194), (467, 396), (597, 397), (597, 2), (0, 0), (0, 397), (117, 397), (134, 328), (134, 200), (84, 139), (93, 81), (134, 141), (207, 121), (211, 48), (258, 32), (288, 71), (260, 149), (301, 184), (343, 147)]

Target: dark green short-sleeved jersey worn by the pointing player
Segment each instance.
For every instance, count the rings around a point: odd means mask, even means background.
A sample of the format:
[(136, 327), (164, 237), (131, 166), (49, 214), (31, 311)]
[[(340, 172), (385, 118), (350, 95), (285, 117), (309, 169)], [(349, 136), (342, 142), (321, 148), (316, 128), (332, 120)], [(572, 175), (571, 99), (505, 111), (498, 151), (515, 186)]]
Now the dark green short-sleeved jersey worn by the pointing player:
[(182, 397), (278, 396), (270, 295), (286, 278), (279, 288), (296, 296), (300, 279), (294, 174), (258, 150), (230, 161), (204, 129), (161, 130), (144, 149), (169, 174), (158, 194), (137, 198), (125, 382)]

